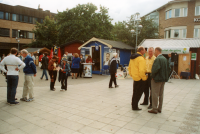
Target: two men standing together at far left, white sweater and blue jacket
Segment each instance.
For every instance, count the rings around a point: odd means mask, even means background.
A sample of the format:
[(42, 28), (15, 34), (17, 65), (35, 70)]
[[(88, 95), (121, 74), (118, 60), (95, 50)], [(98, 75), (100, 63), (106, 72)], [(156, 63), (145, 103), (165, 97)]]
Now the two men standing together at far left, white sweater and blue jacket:
[[(36, 76), (37, 70), (31, 56), (28, 55), (28, 51), (21, 50), (21, 55), (24, 58), (24, 62), (17, 57), (18, 50), (11, 48), (10, 54), (6, 56), (0, 63), (0, 69), (6, 73), (7, 78), (7, 103), (10, 105), (19, 104), (17, 102), (16, 89), (19, 81), (19, 70), (23, 69), (24, 72), (24, 86), (21, 101), (30, 102), (34, 100), (33, 94), (33, 77)], [(5, 68), (6, 66), (6, 68)], [(28, 98), (29, 96), (29, 98)]]

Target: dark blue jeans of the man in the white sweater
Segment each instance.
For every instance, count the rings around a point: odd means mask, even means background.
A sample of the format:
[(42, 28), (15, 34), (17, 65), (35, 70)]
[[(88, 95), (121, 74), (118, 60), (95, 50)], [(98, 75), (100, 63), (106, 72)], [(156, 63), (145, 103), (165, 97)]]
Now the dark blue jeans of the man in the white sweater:
[(18, 85), (18, 75), (7, 75), (7, 102), (14, 103)]

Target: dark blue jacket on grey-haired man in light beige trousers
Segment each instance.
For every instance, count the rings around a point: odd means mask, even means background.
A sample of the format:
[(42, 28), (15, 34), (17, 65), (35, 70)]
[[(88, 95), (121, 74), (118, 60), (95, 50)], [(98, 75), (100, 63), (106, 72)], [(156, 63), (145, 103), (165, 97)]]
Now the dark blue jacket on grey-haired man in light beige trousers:
[(23, 69), (25, 74), (36, 74), (37, 73), (36, 66), (35, 66), (31, 56), (27, 55), (24, 60), (24, 63), (26, 64), (26, 66)]

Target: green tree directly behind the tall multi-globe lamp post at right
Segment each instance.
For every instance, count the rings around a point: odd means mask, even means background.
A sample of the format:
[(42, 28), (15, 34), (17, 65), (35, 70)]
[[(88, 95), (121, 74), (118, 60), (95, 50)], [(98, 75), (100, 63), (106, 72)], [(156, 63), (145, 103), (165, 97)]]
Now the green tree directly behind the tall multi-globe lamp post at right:
[[(132, 34), (130, 32), (131, 30), (136, 31), (135, 23), (135, 15), (131, 15), (130, 19), (127, 22), (123, 21), (115, 23), (112, 30), (114, 39), (135, 47), (136, 34)], [(159, 26), (153, 20), (142, 18), (140, 25), (142, 25), (143, 28), (138, 33), (137, 45), (139, 45), (144, 39), (161, 38), (159, 36)]]

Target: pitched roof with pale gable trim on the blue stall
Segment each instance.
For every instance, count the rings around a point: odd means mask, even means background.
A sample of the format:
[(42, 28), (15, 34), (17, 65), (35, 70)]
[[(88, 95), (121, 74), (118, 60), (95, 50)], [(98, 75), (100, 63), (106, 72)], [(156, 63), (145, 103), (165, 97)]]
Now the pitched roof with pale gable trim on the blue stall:
[(78, 49), (80, 50), (82, 47), (84, 47), (85, 45), (87, 45), (88, 43), (90, 43), (92, 41), (98, 41), (98, 42), (108, 46), (109, 48), (134, 49), (134, 47), (129, 46), (129, 45), (127, 45), (127, 44), (125, 44), (121, 41), (104, 40), (104, 39), (98, 39), (98, 38), (95, 38), (95, 37), (93, 37), (92, 39), (90, 39), (89, 41), (84, 43)]

